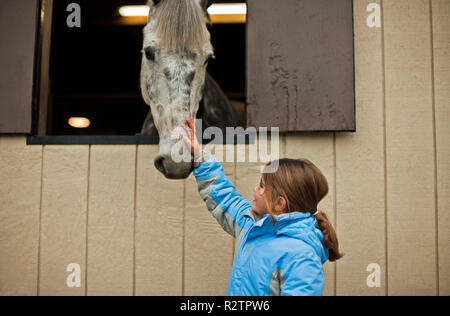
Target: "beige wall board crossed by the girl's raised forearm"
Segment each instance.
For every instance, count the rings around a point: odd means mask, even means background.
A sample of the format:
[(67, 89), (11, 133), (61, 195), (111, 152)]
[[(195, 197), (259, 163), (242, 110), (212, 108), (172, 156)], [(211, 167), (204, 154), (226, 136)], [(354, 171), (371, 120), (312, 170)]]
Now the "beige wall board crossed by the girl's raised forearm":
[[(234, 162), (221, 157), (233, 152), (233, 146), (206, 148), (223, 165), (225, 175), (235, 183)], [(185, 180), (185, 258), (184, 295), (223, 296), (227, 292), (233, 263), (233, 238), (209, 213), (198, 193), (193, 174)]]

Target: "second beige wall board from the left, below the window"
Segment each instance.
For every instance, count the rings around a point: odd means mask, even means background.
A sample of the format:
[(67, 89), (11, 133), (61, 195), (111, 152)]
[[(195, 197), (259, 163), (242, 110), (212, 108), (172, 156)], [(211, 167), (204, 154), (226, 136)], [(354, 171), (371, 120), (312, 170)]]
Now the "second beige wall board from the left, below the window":
[[(39, 294), (85, 295), (89, 146), (44, 146)], [(80, 266), (80, 287), (68, 287)]]

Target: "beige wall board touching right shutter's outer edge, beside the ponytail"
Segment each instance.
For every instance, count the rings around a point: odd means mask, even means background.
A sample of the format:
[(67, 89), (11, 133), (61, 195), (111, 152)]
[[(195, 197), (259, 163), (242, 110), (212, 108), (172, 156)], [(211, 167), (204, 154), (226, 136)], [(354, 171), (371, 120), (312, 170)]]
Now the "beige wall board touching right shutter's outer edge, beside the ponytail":
[[(345, 256), (337, 263), (337, 295), (386, 294), (386, 229), (382, 28), (367, 25), (369, 4), (355, 1), (358, 132), (336, 136), (337, 231)], [(369, 287), (377, 264), (380, 287)]]

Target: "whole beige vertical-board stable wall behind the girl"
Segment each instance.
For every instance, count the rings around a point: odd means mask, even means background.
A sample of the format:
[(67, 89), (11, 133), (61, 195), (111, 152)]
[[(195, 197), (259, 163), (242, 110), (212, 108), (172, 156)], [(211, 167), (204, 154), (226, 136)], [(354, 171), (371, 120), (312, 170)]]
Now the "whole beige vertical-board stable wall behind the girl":
[[(357, 133), (281, 137), (282, 157), (330, 184), (320, 209), (346, 255), (325, 265), (325, 295), (450, 294), (449, 16), (449, 0), (355, 0)], [(0, 295), (224, 295), (233, 240), (193, 176), (163, 178), (156, 153), (0, 136)], [(224, 164), (249, 200), (259, 166)], [(66, 285), (71, 263), (80, 287)]]

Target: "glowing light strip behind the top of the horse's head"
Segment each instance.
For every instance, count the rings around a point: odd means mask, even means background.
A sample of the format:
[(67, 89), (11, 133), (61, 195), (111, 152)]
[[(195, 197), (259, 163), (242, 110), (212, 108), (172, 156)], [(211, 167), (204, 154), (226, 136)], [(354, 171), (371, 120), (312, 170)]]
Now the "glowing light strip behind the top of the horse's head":
[[(127, 5), (119, 8), (119, 14), (124, 17), (148, 16), (150, 8), (146, 5)], [(209, 7), (210, 15), (247, 14), (245, 3), (217, 3)]]

